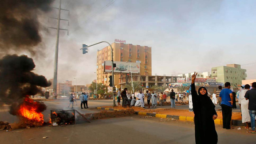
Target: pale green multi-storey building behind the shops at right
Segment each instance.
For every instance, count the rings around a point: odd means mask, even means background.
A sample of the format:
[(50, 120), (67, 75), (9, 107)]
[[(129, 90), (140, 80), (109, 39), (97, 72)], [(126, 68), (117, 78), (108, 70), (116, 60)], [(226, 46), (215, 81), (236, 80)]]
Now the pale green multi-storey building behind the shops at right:
[(245, 80), (246, 69), (241, 69), (239, 64), (228, 64), (227, 66), (219, 66), (211, 68), (212, 78), (216, 79), (216, 82), (226, 83), (230, 82), (231, 86), (242, 84), (242, 80)]

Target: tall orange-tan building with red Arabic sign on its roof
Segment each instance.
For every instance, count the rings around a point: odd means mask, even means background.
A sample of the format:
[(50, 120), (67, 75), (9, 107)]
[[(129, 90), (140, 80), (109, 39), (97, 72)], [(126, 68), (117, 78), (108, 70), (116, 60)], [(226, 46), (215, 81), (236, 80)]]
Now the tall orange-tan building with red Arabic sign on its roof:
[[(151, 75), (151, 47), (132, 45), (125, 43), (112, 43), (113, 48), (113, 60), (114, 61), (127, 61), (127, 62), (139, 62), (140, 73), (139, 75)], [(109, 76), (111, 73), (104, 73), (104, 61), (111, 60), (110, 46), (105, 47), (97, 52), (97, 82), (109, 85)], [(115, 87), (120, 87), (119, 78), (125, 77), (124, 74), (114, 75)]]

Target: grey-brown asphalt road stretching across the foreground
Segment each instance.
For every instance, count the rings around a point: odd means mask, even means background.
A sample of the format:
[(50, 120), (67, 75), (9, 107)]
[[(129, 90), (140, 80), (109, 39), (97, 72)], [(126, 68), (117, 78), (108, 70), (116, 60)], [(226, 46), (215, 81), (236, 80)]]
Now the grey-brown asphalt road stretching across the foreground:
[[(255, 134), (246, 130), (222, 129), (216, 126), (219, 144), (252, 144)], [(120, 118), (80, 122), (68, 126), (0, 131), (1, 144), (195, 144), (193, 122), (166, 121), (132, 115)], [(48, 138), (43, 139), (42, 137)], [(29, 140), (32, 139), (32, 140)], [(209, 140), (210, 141), (210, 140)]]

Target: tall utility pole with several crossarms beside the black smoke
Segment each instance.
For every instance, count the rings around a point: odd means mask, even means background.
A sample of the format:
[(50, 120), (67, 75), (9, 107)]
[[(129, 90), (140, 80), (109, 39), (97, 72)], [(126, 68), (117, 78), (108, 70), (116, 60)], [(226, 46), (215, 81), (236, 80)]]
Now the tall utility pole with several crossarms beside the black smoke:
[[(56, 7), (53, 7), (53, 8), (56, 8)], [(55, 58), (54, 58), (54, 74), (53, 74), (53, 99), (57, 99), (57, 72), (58, 72), (59, 34), (60, 34), (60, 30), (67, 30), (67, 29), (60, 29), (60, 20), (66, 20), (66, 19), (61, 19), (60, 18), (60, 12), (61, 12), (61, 10), (64, 10), (64, 9), (61, 8), (61, 0), (60, 0), (59, 8), (56, 8), (56, 9), (59, 10), (58, 18), (52, 18), (52, 19), (57, 19), (58, 20), (57, 28), (48, 27), (50, 29), (56, 29), (57, 30)], [(64, 11), (69, 12), (69, 10), (64, 10)], [(69, 20), (67, 20), (67, 21), (68, 21), (68, 25), (69, 25)]]

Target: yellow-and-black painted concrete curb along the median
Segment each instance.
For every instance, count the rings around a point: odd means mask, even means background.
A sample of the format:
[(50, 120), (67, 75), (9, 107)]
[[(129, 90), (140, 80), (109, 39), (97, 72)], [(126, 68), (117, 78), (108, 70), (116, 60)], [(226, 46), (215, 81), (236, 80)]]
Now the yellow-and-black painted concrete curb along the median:
[[(96, 107), (96, 109), (102, 109), (102, 110), (119, 110), (119, 109), (111, 109), (111, 108), (104, 108), (104, 107)], [(158, 117), (158, 118), (173, 118), (175, 120), (180, 121), (190, 121), (194, 122), (194, 117), (188, 117), (188, 116), (179, 116), (179, 115), (169, 115), (169, 114), (158, 114), (158, 113), (146, 113), (142, 111), (135, 111), (134, 114), (138, 115), (148, 115), (152, 117)], [(243, 126), (242, 120), (231, 120), (233, 125)], [(215, 124), (222, 125), (222, 119), (217, 118), (214, 120)]]

